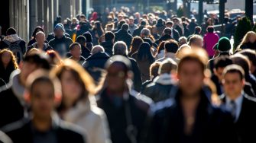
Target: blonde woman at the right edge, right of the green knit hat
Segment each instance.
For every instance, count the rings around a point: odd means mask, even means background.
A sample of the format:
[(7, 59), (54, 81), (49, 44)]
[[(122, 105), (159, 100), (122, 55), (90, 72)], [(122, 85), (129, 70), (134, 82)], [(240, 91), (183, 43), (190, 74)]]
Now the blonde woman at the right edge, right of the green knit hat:
[(241, 40), (238, 49), (256, 49), (256, 33), (254, 31), (249, 31), (245, 34), (243, 40)]

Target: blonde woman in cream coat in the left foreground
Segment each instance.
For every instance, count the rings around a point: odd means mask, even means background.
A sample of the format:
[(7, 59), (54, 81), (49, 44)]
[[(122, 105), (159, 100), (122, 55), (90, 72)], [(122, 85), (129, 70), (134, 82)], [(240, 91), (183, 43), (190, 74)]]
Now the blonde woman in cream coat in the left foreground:
[(66, 59), (52, 71), (60, 79), (63, 100), (57, 109), (60, 117), (86, 129), (89, 143), (109, 142), (105, 113), (92, 97), (95, 85), (90, 75), (76, 62)]

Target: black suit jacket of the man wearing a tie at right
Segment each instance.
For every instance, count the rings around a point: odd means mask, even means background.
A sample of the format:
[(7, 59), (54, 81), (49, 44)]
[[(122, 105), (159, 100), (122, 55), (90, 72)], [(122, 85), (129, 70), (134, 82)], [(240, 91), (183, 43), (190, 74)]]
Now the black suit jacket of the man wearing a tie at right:
[[(225, 108), (225, 95), (222, 97), (222, 108)], [(243, 95), (243, 101), (241, 105), (241, 113), (238, 120), (235, 122), (235, 131), (238, 134), (240, 143), (256, 142), (254, 136), (254, 129), (256, 129), (256, 99), (249, 97), (247, 94)]]

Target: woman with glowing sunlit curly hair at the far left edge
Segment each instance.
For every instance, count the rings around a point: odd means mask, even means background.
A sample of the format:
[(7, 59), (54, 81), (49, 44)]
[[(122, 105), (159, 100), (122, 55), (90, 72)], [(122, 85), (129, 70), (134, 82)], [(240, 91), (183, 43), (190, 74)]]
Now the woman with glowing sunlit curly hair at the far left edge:
[(18, 68), (18, 63), (15, 55), (8, 49), (2, 49), (0, 51), (0, 60), (0, 78), (7, 84), (11, 72)]

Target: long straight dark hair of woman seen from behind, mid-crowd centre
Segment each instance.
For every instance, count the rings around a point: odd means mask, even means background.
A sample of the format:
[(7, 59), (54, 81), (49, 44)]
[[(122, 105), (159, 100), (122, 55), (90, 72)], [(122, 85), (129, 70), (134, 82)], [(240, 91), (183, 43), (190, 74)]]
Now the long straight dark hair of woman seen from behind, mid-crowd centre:
[(141, 43), (141, 46), (138, 49), (138, 61), (142, 61), (143, 59), (147, 59), (149, 62), (154, 62), (151, 46), (146, 42)]

